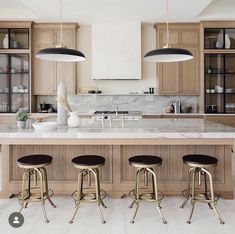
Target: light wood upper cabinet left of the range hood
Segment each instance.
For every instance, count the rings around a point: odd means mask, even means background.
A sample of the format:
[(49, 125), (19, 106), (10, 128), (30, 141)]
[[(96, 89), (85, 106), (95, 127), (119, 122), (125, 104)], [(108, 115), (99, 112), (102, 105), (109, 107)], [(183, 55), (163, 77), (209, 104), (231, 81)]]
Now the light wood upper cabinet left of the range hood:
[[(63, 28), (64, 45), (75, 49), (77, 24), (64, 24)], [(75, 63), (52, 62), (35, 58), (40, 49), (55, 47), (60, 43), (59, 24), (35, 24), (33, 35), (34, 95), (56, 95), (60, 82), (66, 84), (68, 94), (75, 94)]]

